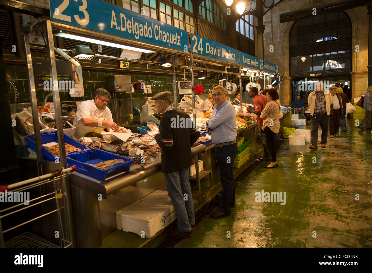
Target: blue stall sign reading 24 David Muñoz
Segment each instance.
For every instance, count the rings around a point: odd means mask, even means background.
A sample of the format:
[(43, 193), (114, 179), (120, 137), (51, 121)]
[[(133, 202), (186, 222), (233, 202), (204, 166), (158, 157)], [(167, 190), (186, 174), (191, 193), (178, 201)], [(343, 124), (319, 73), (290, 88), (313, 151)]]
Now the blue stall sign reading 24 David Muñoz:
[(191, 53), (239, 64), (239, 51), (195, 34), (191, 34)]

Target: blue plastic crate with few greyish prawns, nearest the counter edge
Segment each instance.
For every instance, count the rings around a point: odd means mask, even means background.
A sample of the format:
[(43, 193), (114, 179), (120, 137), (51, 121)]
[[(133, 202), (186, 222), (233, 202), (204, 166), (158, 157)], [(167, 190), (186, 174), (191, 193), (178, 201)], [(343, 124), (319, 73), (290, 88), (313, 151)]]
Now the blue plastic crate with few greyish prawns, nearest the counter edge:
[[(123, 159), (125, 162), (116, 163), (105, 170), (101, 170), (87, 164), (89, 163), (94, 165), (102, 161), (117, 158)], [(69, 166), (76, 165), (77, 172), (83, 173), (84, 175), (90, 176), (99, 181), (105, 181), (107, 178), (117, 175), (121, 172), (128, 172), (132, 163), (132, 159), (98, 149), (74, 152), (67, 157), (67, 164)]]

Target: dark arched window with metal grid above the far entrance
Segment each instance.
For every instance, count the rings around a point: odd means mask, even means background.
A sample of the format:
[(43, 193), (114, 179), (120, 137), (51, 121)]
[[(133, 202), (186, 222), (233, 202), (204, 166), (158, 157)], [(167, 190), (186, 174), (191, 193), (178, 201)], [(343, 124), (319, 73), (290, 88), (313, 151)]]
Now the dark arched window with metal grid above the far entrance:
[(289, 34), (290, 74), (350, 71), (351, 21), (345, 12), (297, 20)]

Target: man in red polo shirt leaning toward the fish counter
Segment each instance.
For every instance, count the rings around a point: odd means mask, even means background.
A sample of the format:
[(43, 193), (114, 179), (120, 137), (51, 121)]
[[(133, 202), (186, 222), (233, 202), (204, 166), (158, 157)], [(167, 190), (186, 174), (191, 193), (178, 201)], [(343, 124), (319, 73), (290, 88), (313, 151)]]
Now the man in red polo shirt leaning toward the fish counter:
[(263, 108), (265, 108), (267, 100), (266, 100), (265, 95), (258, 94), (257, 87), (252, 87), (249, 90), (249, 97), (253, 98), (254, 111), (251, 110), (249, 107), (247, 107), (247, 112), (250, 112), (250, 113), (253, 113), (253, 114), (257, 115), (257, 126), (258, 126), (258, 130), (260, 131), (260, 134), (261, 134), (263, 150), (265, 152), (263, 156), (259, 157), (259, 160), (263, 161), (263, 160), (268, 159), (270, 157), (269, 148), (266, 146), (266, 135), (264, 133), (261, 133), (263, 119), (260, 117), (261, 111), (263, 110)]

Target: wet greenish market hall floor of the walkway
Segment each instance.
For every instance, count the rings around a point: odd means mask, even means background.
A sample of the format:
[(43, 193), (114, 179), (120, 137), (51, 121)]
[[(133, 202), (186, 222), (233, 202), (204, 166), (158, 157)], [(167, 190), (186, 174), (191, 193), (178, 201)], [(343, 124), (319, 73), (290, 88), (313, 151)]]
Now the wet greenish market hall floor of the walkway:
[[(231, 216), (204, 219), (179, 247), (371, 247), (371, 130), (348, 127), (328, 133), (327, 148), (308, 146), (286, 140), (279, 168), (261, 164), (236, 188)], [(262, 190), (286, 192), (285, 205), (256, 202)]]

